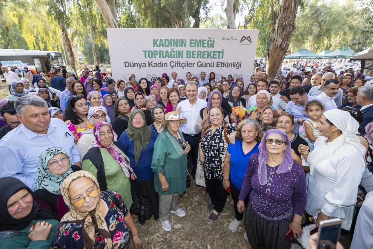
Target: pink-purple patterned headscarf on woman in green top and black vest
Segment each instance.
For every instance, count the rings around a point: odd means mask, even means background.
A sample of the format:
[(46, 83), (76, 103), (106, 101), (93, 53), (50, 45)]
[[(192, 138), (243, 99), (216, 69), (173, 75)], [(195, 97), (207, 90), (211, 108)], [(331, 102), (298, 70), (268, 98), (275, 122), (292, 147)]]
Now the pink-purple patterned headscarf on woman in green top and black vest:
[(107, 149), (107, 152), (109, 152), (110, 155), (115, 159), (115, 161), (120, 165), (123, 172), (125, 172), (126, 177), (129, 178), (130, 173), (128, 172), (128, 170), (131, 171), (131, 172), (134, 172), (134, 171), (131, 168), (131, 165), (129, 164), (128, 159), (125, 156), (123, 156), (123, 154), (120, 152), (118, 147), (113, 145), (114, 144), (114, 131), (113, 131), (112, 126), (109, 123), (98, 122), (95, 125), (95, 127), (93, 129), (93, 134), (95, 136), (95, 141), (92, 143), (92, 145), (95, 146), (95, 147), (104, 148), (104, 146), (101, 144), (100, 135), (99, 135), (100, 127), (103, 126), (103, 125), (108, 125), (110, 127), (110, 129), (112, 130), (112, 134), (113, 134), (112, 144), (108, 147), (105, 147), (105, 148)]

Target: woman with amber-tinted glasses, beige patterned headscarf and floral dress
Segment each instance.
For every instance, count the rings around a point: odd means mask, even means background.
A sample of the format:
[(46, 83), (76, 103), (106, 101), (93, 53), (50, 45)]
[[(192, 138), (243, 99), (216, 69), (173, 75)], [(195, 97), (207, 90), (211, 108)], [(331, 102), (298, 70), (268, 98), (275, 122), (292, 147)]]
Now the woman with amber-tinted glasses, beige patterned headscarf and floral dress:
[(83, 170), (72, 173), (63, 181), (61, 193), (70, 211), (61, 219), (52, 249), (131, 248), (131, 239), (135, 249), (141, 248), (122, 197), (113, 191), (100, 192), (93, 174)]

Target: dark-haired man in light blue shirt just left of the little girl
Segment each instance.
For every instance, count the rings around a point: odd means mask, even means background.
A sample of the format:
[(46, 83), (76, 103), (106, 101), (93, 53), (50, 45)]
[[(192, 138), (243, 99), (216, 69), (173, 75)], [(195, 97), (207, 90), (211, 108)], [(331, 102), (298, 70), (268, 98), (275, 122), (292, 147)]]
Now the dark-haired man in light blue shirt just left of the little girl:
[(296, 86), (290, 89), (291, 101), (286, 105), (285, 111), (294, 115), (295, 127), (293, 132), (299, 134), (299, 127), (304, 123), (305, 119), (310, 118), (305, 113), (305, 105), (311, 100), (319, 100), (323, 105), (324, 103), (318, 97), (312, 97), (305, 93), (304, 88)]

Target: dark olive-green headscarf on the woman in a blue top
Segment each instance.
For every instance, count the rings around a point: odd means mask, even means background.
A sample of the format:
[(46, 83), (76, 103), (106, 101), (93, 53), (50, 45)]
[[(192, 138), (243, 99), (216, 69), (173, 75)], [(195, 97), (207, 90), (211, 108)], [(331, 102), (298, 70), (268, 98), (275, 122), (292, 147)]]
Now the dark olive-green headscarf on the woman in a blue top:
[[(141, 128), (135, 128), (132, 125), (132, 119), (134, 118), (135, 114), (140, 112), (142, 119), (144, 119), (144, 124)], [(140, 153), (142, 148), (146, 150), (148, 143), (150, 141), (151, 137), (151, 128), (146, 126), (145, 122), (145, 115), (144, 112), (141, 109), (134, 109), (131, 114), (129, 115), (129, 122), (128, 122), (128, 128), (126, 130), (127, 136), (131, 141), (134, 141), (134, 154), (135, 154), (135, 163), (137, 164), (137, 161), (140, 158)]]

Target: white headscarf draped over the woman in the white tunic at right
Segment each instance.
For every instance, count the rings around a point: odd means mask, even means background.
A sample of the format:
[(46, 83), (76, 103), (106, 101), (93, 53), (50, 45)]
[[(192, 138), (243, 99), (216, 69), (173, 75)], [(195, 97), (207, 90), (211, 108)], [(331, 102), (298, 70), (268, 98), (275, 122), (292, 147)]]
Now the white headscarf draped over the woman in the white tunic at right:
[[(360, 139), (356, 136), (358, 133), (359, 123), (352, 118), (350, 113), (338, 109), (332, 109), (323, 113), (325, 118), (332, 122), (338, 130), (342, 131), (341, 136), (337, 137), (332, 142), (328, 143), (328, 149), (315, 147), (308, 156), (307, 162), (310, 165), (310, 174), (312, 175), (316, 165), (329, 157), (330, 153), (336, 151), (343, 143), (350, 144), (355, 147), (361, 156), (364, 156), (365, 147), (360, 143)], [(326, 141), (326, 137), (319, 137)], [(324, 141), (324, 142), (325, 142)]]

